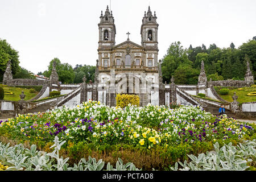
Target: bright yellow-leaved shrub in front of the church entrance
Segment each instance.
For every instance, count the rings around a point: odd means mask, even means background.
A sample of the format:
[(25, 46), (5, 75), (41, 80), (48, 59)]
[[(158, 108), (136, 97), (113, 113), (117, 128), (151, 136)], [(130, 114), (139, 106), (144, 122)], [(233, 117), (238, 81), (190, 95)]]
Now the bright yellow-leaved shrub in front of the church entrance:
[(129, 104), (139, 106), (139, 96), (129, 94), (117, 94), (115, 97), (117, 100), (117, 107), (126, 107)]

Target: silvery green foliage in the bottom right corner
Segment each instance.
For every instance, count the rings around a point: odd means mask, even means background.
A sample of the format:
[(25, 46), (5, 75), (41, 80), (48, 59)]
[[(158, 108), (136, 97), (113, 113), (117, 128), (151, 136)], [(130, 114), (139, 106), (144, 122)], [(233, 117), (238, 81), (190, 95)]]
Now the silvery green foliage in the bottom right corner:
[(244, 143), (239, 143), (237, 146), (232, 146), (232, 143), (225, 144), (220, 148), (218, 142), (213, 144), (214, 151), (207, 151), (199, 156), (188, 155), (191, 162), (178, 162), (181, 168), (178, 168), (178, 163), (171, 167), (172, 171), (244, 171), (250, 167), (250, 164), (256, 159), (256, 142), (254, 140), (246, 140)]

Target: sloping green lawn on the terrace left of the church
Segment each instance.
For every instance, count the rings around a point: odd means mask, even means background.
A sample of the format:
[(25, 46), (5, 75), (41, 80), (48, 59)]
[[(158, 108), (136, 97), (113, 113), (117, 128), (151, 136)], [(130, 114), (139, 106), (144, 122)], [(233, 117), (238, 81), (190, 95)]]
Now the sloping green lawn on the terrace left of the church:
[(24, 91), (24, 94), (26, 95), (26, 97), (24, 98), (24, 100), (26, 101), (30, 100), (31, 98), (35, 97), (38, 94), (38, 92), (30, 93), (30, 89), (16, 88), (13, 86), (2, 86), (2, 87), (5, 91), (14, 93), (13, 95), (5, 94), (5, 97), (3, 98), (3, 100), (6, 100), (6, 101), (19, 101), (20, 100), (19, 95), (22, 93), (22, 91)]

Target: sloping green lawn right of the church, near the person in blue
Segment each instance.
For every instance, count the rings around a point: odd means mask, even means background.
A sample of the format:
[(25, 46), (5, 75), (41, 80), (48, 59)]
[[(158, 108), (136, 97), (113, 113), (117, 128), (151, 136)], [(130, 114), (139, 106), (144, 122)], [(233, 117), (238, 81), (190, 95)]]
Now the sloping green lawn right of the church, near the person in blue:
[[(228, 88), (229, 94), (228, 95), (221, 95), (219, 90), (222, 88)], [(243, 87), (242, 90), (237, 90), (238, 88), (232, 88), (232, 87), (224, 87), (224, 86), (214, 86), (214, 89), (219, 94), (221, 98), (223, 98), (226, 101), (232, 102), (233, 101), (233, 94), (236, 92), (236, 95), (238, 96), (238, 102), (256, 102), (256, 96), (247, 96), (247, 93), (250, 92), (256, 92), (256, 87)]]

